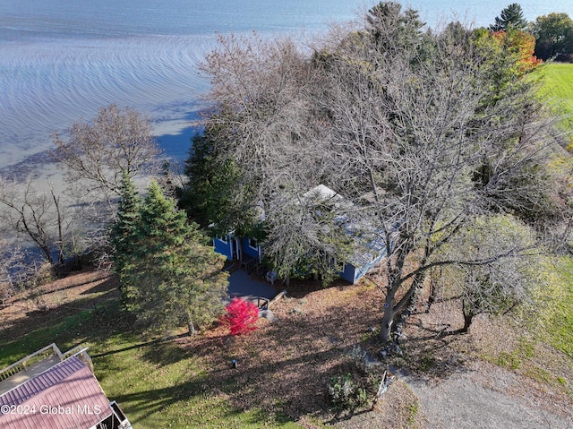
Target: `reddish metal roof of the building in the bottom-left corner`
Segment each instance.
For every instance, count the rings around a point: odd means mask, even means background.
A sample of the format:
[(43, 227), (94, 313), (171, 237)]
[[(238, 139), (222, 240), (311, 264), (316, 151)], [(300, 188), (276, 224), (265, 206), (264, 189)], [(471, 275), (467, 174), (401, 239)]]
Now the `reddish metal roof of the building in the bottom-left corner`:
[(3, 429), (88, 429), (112, 414), (90, 368), (75, 356), (0, 396)]

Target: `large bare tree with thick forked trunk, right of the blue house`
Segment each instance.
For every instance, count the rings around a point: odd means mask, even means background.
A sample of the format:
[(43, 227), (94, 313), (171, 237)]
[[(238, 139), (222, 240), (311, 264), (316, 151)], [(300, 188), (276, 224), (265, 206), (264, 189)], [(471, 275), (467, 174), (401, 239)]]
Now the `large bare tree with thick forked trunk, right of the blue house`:
[(363, 33), (342, 53), (332, 51), (327, 66), (338, 70), (323, 100), (336, 128), (333, 147), (355, 178), (341, 192), (351, 190), (355, 202), (371, 195), (359, 210), (385, 237), (381, 339), (388, 340), (432, 267), (492, 268), (528, 250), (516, 242), (501, 250), (488, 241), (480, 252), (454, 258), (442, 252), (476, 216), (544, 207), (555, 139), (524, 82), (492, 97), (491, 76), (471, 45), (441, 36), (423, 53), (388, 56), (370, 40)]

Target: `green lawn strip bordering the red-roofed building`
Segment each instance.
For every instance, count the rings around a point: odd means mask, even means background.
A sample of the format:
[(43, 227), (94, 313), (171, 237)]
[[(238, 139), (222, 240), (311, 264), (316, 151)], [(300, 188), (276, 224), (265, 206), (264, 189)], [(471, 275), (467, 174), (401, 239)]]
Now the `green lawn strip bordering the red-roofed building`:
[(115, 302), (102, 309), (83, 311), (15, 341), (0, 330), (0, 367), (50, 342), (63, 351), (81, 344), (90, 347), (107, 397), (120, 404), (135, 428), (301, 427), (280, 414), (234, 409), (226, 394), (244, 386), (229, 382), (214, 389), (207, 359), (174, 340), (144, 340)]

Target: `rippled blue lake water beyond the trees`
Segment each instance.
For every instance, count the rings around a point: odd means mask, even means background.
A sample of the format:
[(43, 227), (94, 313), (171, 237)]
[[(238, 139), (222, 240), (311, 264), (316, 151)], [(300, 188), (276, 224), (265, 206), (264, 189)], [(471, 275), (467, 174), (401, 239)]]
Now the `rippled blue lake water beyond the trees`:
[[(294, 34), (304, 42), (329, 21), (355, 19), (363, 0), (0, 0), (0, 172), (51, 146), (49, 134), (116, 103), (153, 117), (158, 142), (182, 159), (197, 97), (197, 64), (217, 34)], [(428, 25), (489, 25), (509, 3), (412, 0)], [(406, 3), (404, 3), (406, 4)], [(570, 0), (520, 2), (526, 18), (565, 12)]]

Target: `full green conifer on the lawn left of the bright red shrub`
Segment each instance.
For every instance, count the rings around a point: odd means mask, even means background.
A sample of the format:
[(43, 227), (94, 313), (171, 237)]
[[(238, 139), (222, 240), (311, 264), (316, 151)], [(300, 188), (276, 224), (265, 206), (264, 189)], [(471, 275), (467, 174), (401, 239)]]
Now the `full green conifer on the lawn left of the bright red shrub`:
[(157, 183), (150, 185), (140, 213), (136, 246), (120, 274), (127, 308), (154, 330), (186, 324), (194, 334), (198, 325), (212, 322), (223, 310), (225, 258)]

